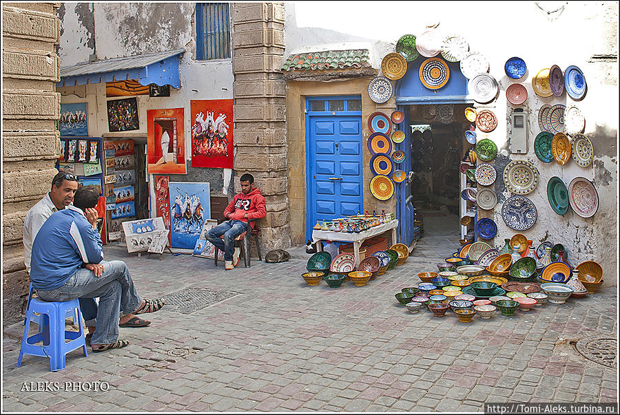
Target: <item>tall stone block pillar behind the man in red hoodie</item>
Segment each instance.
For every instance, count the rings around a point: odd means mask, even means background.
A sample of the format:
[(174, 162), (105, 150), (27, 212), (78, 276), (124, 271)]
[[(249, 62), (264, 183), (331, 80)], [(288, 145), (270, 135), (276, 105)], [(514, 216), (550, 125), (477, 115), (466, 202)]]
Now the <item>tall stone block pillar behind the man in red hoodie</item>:
[(291, 244), (285, 125), (285, 9), (282, 3), (234, 3), (235, 191), (251, 173), (267, 202), (258, 222), (262, 251)]

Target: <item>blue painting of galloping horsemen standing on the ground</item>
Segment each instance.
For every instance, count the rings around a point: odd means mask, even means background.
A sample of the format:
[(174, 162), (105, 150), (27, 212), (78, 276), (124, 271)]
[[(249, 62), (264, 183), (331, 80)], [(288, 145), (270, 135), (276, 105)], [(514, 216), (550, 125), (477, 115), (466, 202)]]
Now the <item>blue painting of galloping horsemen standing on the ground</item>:
[(209, 183), (169, 182), (168, 195), (172, 248), (193, 251), (211, 215)]

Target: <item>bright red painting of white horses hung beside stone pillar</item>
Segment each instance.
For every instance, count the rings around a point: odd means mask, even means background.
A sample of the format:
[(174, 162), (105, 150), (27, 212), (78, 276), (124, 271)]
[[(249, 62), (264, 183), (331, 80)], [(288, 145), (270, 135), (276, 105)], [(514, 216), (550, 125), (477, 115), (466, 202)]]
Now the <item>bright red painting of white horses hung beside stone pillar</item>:
[(192, 167), (233, 168), (233, 100), (190, 100)]

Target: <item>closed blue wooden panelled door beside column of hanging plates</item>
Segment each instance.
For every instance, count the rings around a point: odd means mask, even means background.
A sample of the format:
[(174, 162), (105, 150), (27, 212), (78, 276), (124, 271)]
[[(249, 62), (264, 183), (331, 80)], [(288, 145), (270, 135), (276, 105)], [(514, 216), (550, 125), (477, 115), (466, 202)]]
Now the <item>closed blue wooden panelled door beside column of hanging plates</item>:
[(349, 106), (344, 100), (342, 111), (307, 113), (307, 239), (318, 220), (364, 211), (362, 116)]

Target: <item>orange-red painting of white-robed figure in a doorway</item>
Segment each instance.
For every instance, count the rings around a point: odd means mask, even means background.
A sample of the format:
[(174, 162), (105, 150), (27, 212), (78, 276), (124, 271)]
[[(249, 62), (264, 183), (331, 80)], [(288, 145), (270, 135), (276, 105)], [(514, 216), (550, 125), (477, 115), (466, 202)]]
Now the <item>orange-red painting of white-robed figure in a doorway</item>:
[(186, 174), (183, 108), (147, 111), (147, 169), (154, 174)]

